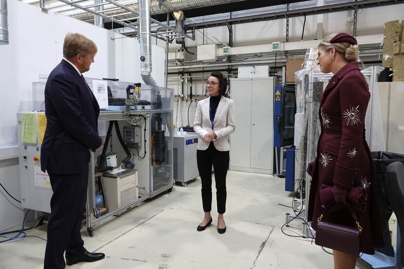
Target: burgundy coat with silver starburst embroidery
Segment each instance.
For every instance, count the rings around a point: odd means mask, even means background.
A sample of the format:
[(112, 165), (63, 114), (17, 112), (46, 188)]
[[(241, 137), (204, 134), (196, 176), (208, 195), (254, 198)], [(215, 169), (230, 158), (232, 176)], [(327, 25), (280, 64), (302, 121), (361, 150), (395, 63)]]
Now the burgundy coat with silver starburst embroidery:
[[(373, 161), (365, 140), (365, 115), (370, 93), (357, 62), (350, 62), (337, 72), (320, 97), (321, 134), (317, 158), (309, 164), (312, 176), (308, 205), (308, 220), (317, 228), (317, 218), (323, 213), (325, 195), (320, 199), (322, 184), (334, 184), (349, 191), (355, 186), (367, 186), (364, 212), (356, 212), (363, 228), (362, 252), (372, 254), (373, 247), (383, 246)], [(310, 169), (312, 167), (312, 169)], [(331, 195), (331, 193), (329, 193)], [(329, 197), (328, 197), (329, 198)], [(346, 205), (333, 203), (325, 221), (354, 226)]]

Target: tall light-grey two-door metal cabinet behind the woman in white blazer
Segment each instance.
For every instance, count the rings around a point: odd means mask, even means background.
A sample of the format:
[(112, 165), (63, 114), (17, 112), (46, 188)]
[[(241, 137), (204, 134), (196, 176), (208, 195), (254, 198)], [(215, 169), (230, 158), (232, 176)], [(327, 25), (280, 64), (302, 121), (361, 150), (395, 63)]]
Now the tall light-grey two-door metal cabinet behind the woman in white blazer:
[(272, 174), (274, 78), (235, 78), (231, 99), (236, 131), (230, 138), (230, 170)]

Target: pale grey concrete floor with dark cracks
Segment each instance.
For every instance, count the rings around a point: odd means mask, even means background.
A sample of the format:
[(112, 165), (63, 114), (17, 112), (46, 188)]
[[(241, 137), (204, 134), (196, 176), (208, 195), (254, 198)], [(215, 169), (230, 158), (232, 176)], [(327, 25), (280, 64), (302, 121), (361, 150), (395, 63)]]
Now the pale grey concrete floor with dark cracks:
[[(169, 194), (116, 217), (89, 237), (88, 251), (106, 258), (69, 269), (332, 269), (333, 258), (310, 241), (286, 237), (280, 231), (292, 197), (284, 179), (230, 171), (227, 177), (227, 231), (217, 232), (216, 198), (213, 225), (203, 232), (201, 181), (175, 186)], [(283, 206), (283, 205), (287, 206)], [(29, 224), (27, 225), (29, 226)], [(291, 228), (301, 231), (300, 221)], [(293, 233), (291, 233), (293, 234)], [(46, 238), (46, 225), (29, 235)], [(40, 269), (46, 242), (26, 237), (0, 244), (1, 269)], [(358, 269), (370, 268), (363, 261)]]

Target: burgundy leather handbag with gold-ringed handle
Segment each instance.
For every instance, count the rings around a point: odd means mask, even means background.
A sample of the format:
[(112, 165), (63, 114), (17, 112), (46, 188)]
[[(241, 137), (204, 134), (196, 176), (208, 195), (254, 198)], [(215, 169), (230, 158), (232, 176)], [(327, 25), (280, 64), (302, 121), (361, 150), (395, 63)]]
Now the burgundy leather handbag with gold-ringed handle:
[[(332, 204), (332, 203), (331, 203)], [(330, 206), (327, 207), (327, 209)], [(317, 219), (317, 230), (315, 233), (315, 244), (332, 250), (358, 255), (360, 252), (360, 242), (362, 227), (358, 217), (348, 204), (349, 211), (356, 222), (357, 227), (349, 227), (341, 224), (322, 221), (327, 209)]]

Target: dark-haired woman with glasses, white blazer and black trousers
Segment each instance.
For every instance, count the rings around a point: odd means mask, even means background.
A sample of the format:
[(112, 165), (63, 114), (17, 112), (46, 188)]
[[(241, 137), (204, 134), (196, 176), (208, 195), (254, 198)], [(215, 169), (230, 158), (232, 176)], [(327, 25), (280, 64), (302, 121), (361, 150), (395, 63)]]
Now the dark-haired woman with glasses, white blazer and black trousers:
[(212, 72), (206, 81), (209, 98), (198, 103), (194, 131), (201, 137), (198, 143), (197, 162), (202, 180), (202, 205), (205, 216), (197, 228), (203, 231), (212, 223), (212, 164), (215, 171), (218, 203), (218, 232), (226, 232), (223, 214), (226, 211), (226, 175), (229, 167), (229, 135), (234, 132), (234, 101), (223, 95), (227, 79), (220, 72)]

